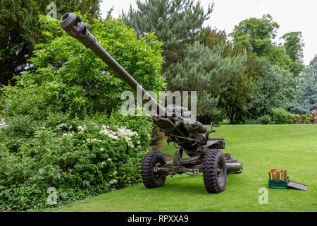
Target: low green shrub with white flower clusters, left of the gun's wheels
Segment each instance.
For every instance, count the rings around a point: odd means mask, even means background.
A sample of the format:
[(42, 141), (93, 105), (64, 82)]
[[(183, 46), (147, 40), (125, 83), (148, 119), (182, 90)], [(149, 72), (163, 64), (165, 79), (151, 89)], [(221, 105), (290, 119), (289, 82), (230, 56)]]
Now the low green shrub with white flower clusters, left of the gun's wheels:
[(52, 207), (50, 187), (59, 206), (140, 182), (151, 143), (144, 117), (51, 114), (45, 121), (14, 116), (6, 123), (0, 129), (0, 210)]

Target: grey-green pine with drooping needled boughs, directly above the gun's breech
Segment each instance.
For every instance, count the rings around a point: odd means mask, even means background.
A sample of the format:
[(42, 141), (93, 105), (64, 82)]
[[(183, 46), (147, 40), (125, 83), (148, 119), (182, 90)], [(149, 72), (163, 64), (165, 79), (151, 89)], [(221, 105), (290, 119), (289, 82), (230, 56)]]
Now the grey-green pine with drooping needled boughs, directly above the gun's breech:
[(185, 59), (166, 71), (175, 74), (170, 83), (175, 90), (197, 91), (197, 116), (214, 119), (220, 113), (217, 106), (220, 94), (227, 88), (225, 83), (230, 76), (244, 71), (247, 55), (222, 57), (224, 44), (209, 49), (199, 42), (189, 44), (186, 51)]

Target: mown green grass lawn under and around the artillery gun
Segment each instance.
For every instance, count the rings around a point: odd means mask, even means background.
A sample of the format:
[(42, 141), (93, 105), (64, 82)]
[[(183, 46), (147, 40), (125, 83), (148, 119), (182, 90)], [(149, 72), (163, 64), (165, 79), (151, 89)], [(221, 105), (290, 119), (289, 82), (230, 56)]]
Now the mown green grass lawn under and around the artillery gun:
[[(142, 183), (49, 211), (317, 211), (317, 125), (226, 125), (214, 137), (243, 163), (241, 174), (228, 174), (225, 191), (209, 194), (202, 174), (167, 177), (166, 184), (146, 189)], [(173, 155), (173, 143), (161, 147)], [(268, 189), (268, 171), (287, 169), (307, 191)], [(268, 204), (259, 204), (259, 189), (268, 189)]]

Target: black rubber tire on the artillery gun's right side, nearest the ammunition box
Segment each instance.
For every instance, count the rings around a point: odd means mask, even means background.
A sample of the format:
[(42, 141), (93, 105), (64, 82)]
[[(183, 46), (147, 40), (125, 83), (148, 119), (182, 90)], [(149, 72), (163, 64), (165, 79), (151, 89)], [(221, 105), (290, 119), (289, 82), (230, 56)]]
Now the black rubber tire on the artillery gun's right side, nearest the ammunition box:
[(203, 177), (206, 190), (217, 194), (225, 190), (227, 167), (225, 155), (218, 149), (209, 150), (204, 156)]

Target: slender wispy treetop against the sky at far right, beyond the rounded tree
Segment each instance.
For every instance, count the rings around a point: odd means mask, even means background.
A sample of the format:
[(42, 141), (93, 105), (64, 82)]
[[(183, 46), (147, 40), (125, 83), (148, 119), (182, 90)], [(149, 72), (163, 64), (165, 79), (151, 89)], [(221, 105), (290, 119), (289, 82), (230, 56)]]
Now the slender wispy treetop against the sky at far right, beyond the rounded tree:
[(290, 65), (290, 71), (294, 73), (294, 76), (299, 76), (305, 66), (303, 64), (303, 47), (302, 32), (288, 32), (281, 37), (285, 42), (282, 44), (283, 49), (290, 59), (292, 64)]

